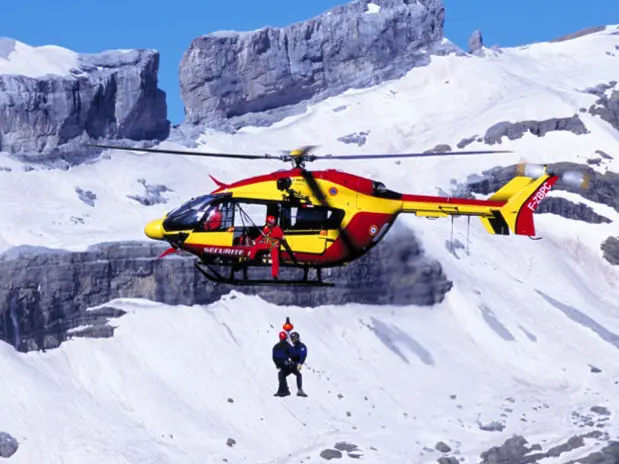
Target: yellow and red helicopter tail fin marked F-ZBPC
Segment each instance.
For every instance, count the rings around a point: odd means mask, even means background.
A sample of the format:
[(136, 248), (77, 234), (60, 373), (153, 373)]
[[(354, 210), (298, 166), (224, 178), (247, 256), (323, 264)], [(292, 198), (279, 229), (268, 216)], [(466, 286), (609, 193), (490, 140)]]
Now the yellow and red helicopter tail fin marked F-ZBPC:
[(490, 200), (507, 201), (499, 209), (492, 210), (494, 217), (482, 217), (481, 221), (491, 234), (535, 236), (533, 213), (559, 180), (558, 176), (543, 174), (537, 179), (525, 176), (514, 177)]

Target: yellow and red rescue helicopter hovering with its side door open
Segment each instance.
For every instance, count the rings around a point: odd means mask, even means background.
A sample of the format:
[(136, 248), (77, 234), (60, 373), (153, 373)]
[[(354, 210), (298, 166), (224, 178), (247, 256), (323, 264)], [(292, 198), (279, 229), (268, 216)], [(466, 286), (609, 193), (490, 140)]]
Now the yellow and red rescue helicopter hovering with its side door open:
[[(384, 183), (335, 169), (309, 171), (318, 160), (360, 160), (427, 156), (512, 153), (505, 150), (378, 155), (315, 155), (304, 146), (281, 155), (204, 153), (199, 151), (90, 145), (99, 148), (174, 155), (246, 160), (278, 159), (291, 169), (224, 183), (210, 176), (217, 188), (192, 198), (160, 219), (149, 222), (145, 235), (170, 245), (159, 258), (179, 251), (198, 259), (195, 267), (209, 280), (230, 285), (334, 286), (322, 278), (326, 268), (346, 266), (375, 247), (400, 214), (428, 219), (477, 216), (489, 234), (522, 235), (535, 239), (533, 213), (561, 178), (584, 186), (586, 174), (549, 172), (547, 165), (518, 165), (517, 175), (488, 199), (403, 194)], [(218, 220), (209, 221), (217, 212)], [(272, 264), (269, 251), (250, 258), (267, 217), (275, 218), (284, 233), (279, 266), (303, 270), (300, 279), (250, 279), (248, 269)], [(227, 275), (215, 269), (227, 268)], [(316, 278), (309, 279), (314, 270)], [(243, 277), (236, 273), (242, 271)]]

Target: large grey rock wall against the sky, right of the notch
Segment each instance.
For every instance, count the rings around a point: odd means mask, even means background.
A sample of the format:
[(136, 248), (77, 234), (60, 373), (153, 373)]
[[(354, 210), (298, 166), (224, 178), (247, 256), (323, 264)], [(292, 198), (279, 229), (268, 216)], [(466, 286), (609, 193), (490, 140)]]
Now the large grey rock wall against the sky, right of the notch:
[(443, 43), (444, 16), (441, 0), (360, 0), (284, 28), (198, 37), (180, 65), (185, 124), (270, 125), (303, 102), (399, 78), (429, 54), (462, 53)]

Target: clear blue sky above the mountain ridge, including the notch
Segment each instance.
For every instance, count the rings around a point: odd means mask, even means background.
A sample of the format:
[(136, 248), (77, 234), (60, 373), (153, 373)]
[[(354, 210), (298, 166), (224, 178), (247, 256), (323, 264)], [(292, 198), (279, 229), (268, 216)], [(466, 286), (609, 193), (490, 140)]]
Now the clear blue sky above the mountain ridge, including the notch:
[[(0, 35), (30, 45), (54, 44), (82, 53), (117, 48), (161, 52), (160, 87), (168, 117), (183, 119), (178, 65), (191, 40), (215, 30), (285, 26), (345, 3), (335, 0), (29, 0), (2, 6)], [(585, 27), (619, 24), (618, 0), (444, 0), (445, 35), (466, 47), (481, 29), (487, 45), (545, 41)], [(102, 5), (105, 5), (104, 7)]]

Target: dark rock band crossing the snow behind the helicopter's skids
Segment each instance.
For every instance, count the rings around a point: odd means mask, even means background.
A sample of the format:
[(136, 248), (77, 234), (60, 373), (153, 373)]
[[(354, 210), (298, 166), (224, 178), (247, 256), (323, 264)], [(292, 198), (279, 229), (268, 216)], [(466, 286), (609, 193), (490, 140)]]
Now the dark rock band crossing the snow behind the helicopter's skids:
[[(397, 231), (359, 261), (325, 271), (335, 288), (236, 287), (281, 305), (318, 306), (349, 302), (432, 305), (451, 289), (440, 263), (427, 259), (410, 232)], [(0, 339), (20, 350), (58, 346), (68, 336), (111, 336), (110, 317), (122, 311), (108, 305), (119, 297), (167, 304), (208, 304), (232, 287), (213, 285), (193, 266), (192, 257), (157, 260), (158, 243), (112, 243), (86, 252), (17, 248), (0, 255)], [(263, 271), (263, 272), (260, 272)], [(302, 271), (284, 269), (299, 277)], [(296, 272), (295, 272), (296, 271)], [(270, 275), (254, 269), (250, 277)], [(106, 305), (97, 311), (89, 307)], [(71, 334), (77, 327), (84, 327)]]

